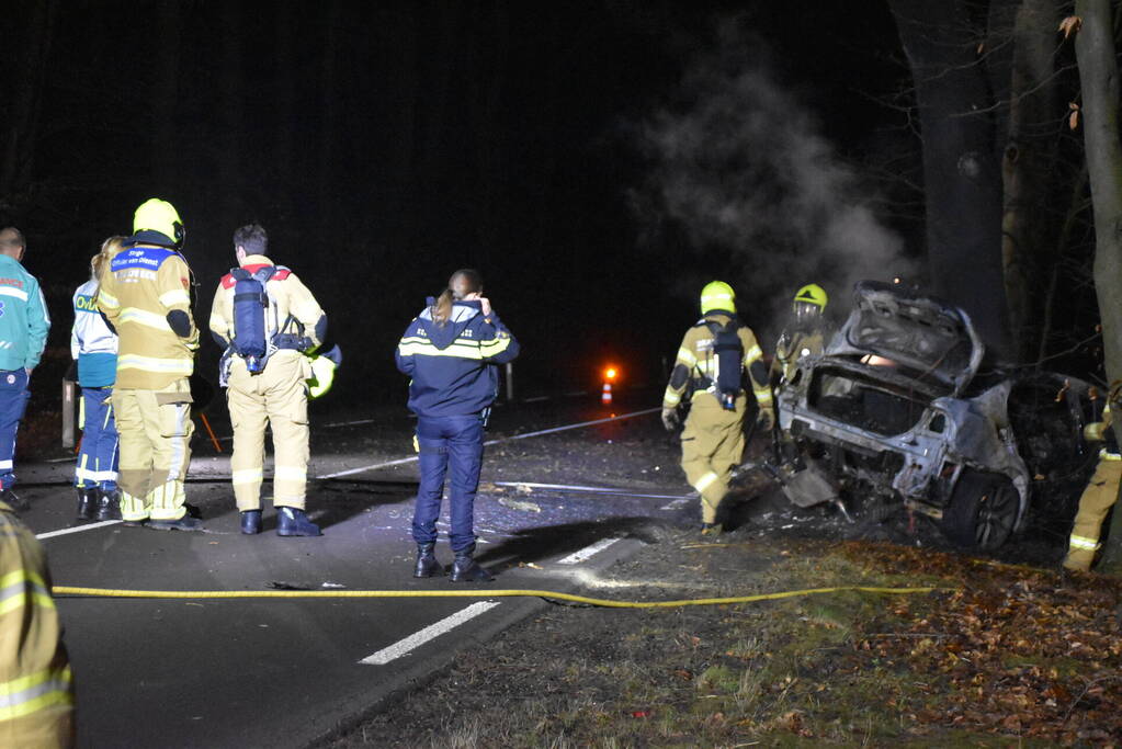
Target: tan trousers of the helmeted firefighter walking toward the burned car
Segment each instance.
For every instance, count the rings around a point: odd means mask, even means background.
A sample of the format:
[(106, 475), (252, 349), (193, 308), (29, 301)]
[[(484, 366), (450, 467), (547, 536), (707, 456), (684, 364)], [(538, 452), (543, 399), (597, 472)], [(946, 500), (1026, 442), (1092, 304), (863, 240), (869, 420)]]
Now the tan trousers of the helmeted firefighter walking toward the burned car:
[(744, 412), (747, 396), (736, 398), (736, 410), (720, 407), (710, 392), (699, 392), (690, 404), (682, 429), (682, 470), (701, 494), (701, 521), (717, 521), (717, 506), (728, 492), (733, 466), (744, 455)]

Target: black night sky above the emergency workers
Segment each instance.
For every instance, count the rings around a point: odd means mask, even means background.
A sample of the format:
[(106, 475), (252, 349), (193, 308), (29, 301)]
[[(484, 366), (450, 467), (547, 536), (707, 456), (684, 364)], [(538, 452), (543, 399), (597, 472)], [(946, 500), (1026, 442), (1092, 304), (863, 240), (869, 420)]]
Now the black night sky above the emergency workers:
[[(879, 272), (918, 267), (921, 205), (875, 178), (918, 164), (888, 103), (908, 73), (882, 3), (12, 4), (0, 223), (28, 235), (47, 289), (48, 366), (68, 360), (89, 257), (153, 196), (186, 224), (202, 326), (232, 231), (259, 222), (337, 325), (342, 381), (403, 401), (394, 344), (463, 266), (523, 342), (523, 395), (587, 386), (608, 359), (661, 380), (714, 277), (769, 350), (798, 286), (844, 306), (857, 271), (821, 257), (804, 228), (821, 216), (784, 207), (807, 186), (764, 158), (806, 144), (816, 174), (798, 179), (847, 195), (808, 210), (870, 232)], [(735, 147), (708, 148), (726, 129)], [(701, 151), (721, 164), (698, 178)], [(712, 231), (695, 209), (726, 189), (755, 213)], [(204, 343), (203, 373), (218, 353)]]

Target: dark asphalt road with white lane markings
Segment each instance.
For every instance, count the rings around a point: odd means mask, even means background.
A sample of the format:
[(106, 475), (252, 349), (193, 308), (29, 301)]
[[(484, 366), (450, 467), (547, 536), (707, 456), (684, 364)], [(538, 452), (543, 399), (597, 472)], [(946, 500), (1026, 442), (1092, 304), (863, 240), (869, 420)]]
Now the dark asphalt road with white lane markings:
[[(342, 419), (313, 423), (312, 473), (318, 480), (310, 510), (324, 527), (321, 538), (276, 536), (270, 509), (265, 533), (240, 535), (228, 459), (201, 441), (188, 501), (201, 507), (205, 533), (79, 524), (73, 492), (64, 483), (72, 466), (61, 461), (19, 466), (21, 493), (33, 503), (24, 519), (47, 548), (56, 585), (421, 594), (487, 588), (573, 591), (581, 577), (642, 543), (632, 533), (635, 528), (650, 518), (681, 521), (692, 506), (675, 500), (687, 487), (672, 477), (664, 477), (659, 489), (651, 481), (631, 483), (580, 470), (596, 450), (611, 446), (614, 436), (626, 442), (644, 435), (635, 443), (641, 450), (645, 435), (657, 433), (656, 414), (573, 427), (645, 410), (652, 403), (649, 396), (632, 404), (625, 399), (609, 412), (594, 398), (496, 410), (488, 434), (496, 442), (489, 447), (476, 521), (477, 556), (499, 574), (489, 585), (411, 576), (408, 521), (416, 471), (408, 449), (411, 419), (399, 409), (388, 415), (348, 409)], [(221, 425), (217, 431), (221, 436)], [(580, 446), (586, 437), (587, 453)], [(506, 450), (514, 445), (517, 450)], [(642, 464), (643, 456), (635, 457)], [(536, 487), (523, 493), (507, 486), (550, 483), (559, 473), (537, 475), (544, 471), (537, 466), (545, 465), (568, 466), (567, 475), (586, 480), (565, 482), (568, 489)], [(447, 544), (441, 543), (439, 555), (451, 561)], [(77, 684), (80, 746), (306, 746), (440, 668), (457, 649), (495, 636), (543, 605), (535, 598), (424, 595), (62, 598)]]

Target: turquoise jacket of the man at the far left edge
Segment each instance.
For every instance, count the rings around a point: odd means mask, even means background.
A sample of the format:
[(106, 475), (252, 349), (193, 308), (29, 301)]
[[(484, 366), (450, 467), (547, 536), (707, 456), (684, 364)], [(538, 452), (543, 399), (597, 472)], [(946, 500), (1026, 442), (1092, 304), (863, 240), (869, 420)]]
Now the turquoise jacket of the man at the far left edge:
[(0, 255), (0, 370), (38, 364), (49, 330), (38, 279), (16, 258)]

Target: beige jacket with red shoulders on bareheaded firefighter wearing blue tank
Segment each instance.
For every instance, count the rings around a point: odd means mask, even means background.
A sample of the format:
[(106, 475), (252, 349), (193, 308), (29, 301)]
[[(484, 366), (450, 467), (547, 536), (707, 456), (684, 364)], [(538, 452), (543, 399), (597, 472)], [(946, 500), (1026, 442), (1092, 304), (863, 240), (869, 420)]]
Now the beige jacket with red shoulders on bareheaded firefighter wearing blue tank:
[[(273, 265), (273, 261), (264, 255), (247, 255), (241, 267), (254, 274)], [(210, 330), (217, 339), (221, 339), (224, 345), (229, 345), (234, 334), (233, 289), (236, 285), (237, 281), (232, 275), (223, 276), (214, 292), (214, 303), (211, 305)], [(266, 341), (270, 341), (278, 333), (282, 333), (307, 339), (305, 344), (307, 350), (315, 349), (323, 343), (327, 316), (323, 314), (320, 303), (315, 300), (315, 297), (296, 274), (284, 266), (276, 266), (276, 271), (266, 284), (265, 292), (269, 299), (269, 307), (265, 311)], [(277, 353), (286, 350), (294, 354), (300, 353), (289, 345), (283, 345)]]

